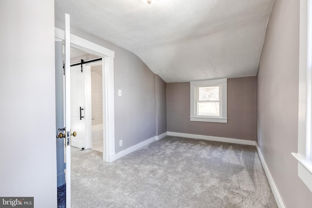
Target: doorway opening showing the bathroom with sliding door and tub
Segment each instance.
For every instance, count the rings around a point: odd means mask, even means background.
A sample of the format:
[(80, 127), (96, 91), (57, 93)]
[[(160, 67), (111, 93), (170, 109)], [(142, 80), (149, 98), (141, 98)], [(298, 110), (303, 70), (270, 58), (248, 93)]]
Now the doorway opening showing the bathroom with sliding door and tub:
[[(89, 60), (91, 58), (91, 60)], [(71, 48), (72, 146), (104, 152), (103, 77), (105, 60)], [(78, 63), (77, 63), (78, 62)]]

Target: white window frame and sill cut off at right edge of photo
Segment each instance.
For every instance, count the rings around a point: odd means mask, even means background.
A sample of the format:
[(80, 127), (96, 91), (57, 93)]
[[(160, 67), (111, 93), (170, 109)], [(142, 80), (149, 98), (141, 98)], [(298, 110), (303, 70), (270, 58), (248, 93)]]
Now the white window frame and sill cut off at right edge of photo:
[(312, 191), (312, 0), (300, 0), (298, 176)]

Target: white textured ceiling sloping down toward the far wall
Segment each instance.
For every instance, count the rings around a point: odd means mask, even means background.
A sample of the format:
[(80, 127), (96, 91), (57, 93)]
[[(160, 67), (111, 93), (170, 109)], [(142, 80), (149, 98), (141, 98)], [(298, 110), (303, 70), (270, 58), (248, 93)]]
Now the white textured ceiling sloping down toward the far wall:
[(256, 76), (274, 0), (55, 0), (55, 16), (125, 48), (166, 82)]

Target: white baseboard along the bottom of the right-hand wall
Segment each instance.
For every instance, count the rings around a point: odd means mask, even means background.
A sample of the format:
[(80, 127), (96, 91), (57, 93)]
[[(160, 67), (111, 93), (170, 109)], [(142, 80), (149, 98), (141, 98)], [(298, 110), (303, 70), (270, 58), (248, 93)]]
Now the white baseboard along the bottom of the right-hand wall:
[(266, 164), (266, 162), (265, 162), (265, 160), (264, 160), (264, 158), (262, 156), (262, 153), (261, 153), (260, 148), (259, 148), (257, 143), (255, 143), (255, 148), (257, 149), (258, 155), (259, 155), (261, 163), (262, 163), (262, 167), (263, 167), (263, 169), (265, 171), (265, 174), (267, 175), (267, 178), (268, 178), (270, 187), (272, 189), (272, 192), (273, 192), (276, 204), (277, 204), (278, 208), (285, 208), (285, 206), (283, 204), (283, 201), (282, 201), (282, 198), (279, 195), (278, 189), (276, 188), (275, 183), (273, 181), (273, 178), (272, 178), (272, 175), (270, 173), (270, 170), (269, 170), (269, 168), (268, 168), (268, 166), (267, 166), (267, 164)]

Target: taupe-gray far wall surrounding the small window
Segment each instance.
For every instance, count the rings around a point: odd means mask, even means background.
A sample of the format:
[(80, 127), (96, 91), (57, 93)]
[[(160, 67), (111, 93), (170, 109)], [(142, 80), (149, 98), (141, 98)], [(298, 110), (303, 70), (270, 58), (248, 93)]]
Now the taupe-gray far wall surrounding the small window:
[(190, 121), (190, 83), (167, 83), (168, 132), (255, 140), (256, 77), (228, 79), (228, 123)]

